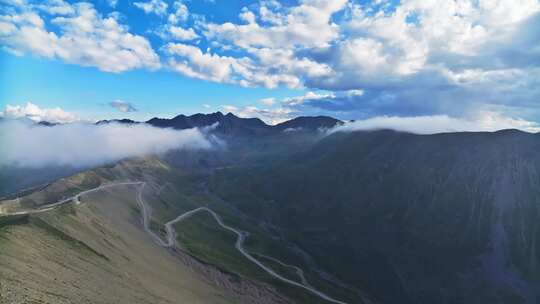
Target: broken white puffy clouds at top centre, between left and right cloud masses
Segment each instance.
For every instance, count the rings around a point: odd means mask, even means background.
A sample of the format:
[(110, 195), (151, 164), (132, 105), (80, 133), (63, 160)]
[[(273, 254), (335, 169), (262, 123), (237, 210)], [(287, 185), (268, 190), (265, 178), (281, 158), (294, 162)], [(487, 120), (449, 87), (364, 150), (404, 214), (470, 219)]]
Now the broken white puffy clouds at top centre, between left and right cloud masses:
[[(272, 26), (257, 23), (253, 11), (244, 8), (240, 19), (247, 24), (213, 24), (199, 22), (205, 38), (222, 50), (242, 49), (241, 57), (222, 56), (219, 52), (210, 55), (209, 50), (200, 50), (206, 57), (218, 58), (228, 68), (223, 77), (216, 77), (213, 69), (201, 69), (200, 61), (182, 54), (183, 60), (173, 58), (173, 69), (191, 77), (212, 81), (235, 83), (242, 86), (301, 87), (303, 78), (331, 76), (326, 64), (317, 63), (307, 57), (297, 58), (295, 50), (304, 47), (327, 46), (337, 38), (339, 27), (330, 17), (344, 7), (345, 1), (304, 1), (303, 4), (288, 10), (288, 14), (274, 14), (279, 22)], [(261, 10), (275, 9), (278, 4), (263, 3)], [(281, 6), (279, 6), (281, 7)], [(268, 22), (269, 13), (261, 21)], [(190, 46), (195, 47), (195, 46)], [(190, 52), (194, 54), (195, 52)], [(200, 56), (198, 56), (200, 57)], [(209, 74), (205, 75), (205, 72)], [(195, 75), (195, 76), (193, 76)]]

